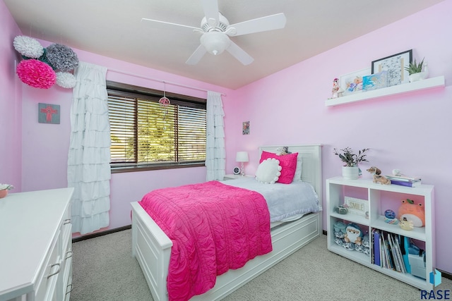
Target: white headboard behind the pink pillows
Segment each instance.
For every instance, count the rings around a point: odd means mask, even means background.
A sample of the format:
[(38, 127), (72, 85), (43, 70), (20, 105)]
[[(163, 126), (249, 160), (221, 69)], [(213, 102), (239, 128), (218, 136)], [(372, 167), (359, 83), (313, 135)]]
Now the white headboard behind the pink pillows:
[(302, 180), (311, 183), (322, 202), (322, 146), (321, 145), (270, 145), (259, 147), (262, 151), (276, 153), (278, 147), (289, 147), (289, 152), (302, 156)]

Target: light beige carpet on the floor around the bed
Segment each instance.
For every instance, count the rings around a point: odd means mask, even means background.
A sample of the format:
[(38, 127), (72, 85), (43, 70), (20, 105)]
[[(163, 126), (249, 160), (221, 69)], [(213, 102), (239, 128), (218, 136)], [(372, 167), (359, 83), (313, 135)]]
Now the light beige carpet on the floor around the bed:
[[(73, 243), (73, 285), (72, 301), (153, 300), (131, 257), (131, 230)], [(452, 281), (442, 278), (436, 290), (452, 290)], [(329, 252), (321, 235), (223, 300), (414, 301), (421, 292)]]

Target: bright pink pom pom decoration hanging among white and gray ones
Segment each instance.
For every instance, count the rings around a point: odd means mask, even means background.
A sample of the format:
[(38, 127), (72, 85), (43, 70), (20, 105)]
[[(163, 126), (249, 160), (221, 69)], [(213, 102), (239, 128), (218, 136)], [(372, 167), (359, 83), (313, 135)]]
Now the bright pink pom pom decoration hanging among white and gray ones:
[(57, 81), (57, 75), (52, 67), (36, 59), (20, 61), (16, 73), (22, 82), (40, 89), (49, 89)]

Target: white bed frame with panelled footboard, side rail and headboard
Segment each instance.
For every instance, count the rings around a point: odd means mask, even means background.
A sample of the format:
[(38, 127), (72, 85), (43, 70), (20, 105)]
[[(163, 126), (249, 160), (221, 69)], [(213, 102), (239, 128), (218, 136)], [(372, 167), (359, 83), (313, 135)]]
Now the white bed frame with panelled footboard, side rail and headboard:
[[(259, 147), (276, 152), (280, 146)], [(314, 185), (322, 202), (321, 145), (288, 145), (289, 151), (303, 158), (302, 180)], [(138, 202), (132, 202), (132, 254), (138, 260), (155, 301), (168, 300), (167, 274), (172, 242)], [(302, 219), (283, 223), (271, 231), (273, 251), (258, 256), (241, 269), (230, 270), (217, 277), (215, 286), (191, 300), (220, 300), (285, 257), (299, 250), (322, 233), (321, 211)]]

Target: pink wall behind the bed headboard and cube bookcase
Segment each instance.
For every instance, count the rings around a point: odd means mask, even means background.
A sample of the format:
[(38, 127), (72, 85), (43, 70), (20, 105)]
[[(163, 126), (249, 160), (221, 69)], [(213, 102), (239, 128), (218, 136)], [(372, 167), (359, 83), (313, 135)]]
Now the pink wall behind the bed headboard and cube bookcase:
[[(340, 175), (333, 148), (369, 147), (369, 164), (383, 173), (398, 168), (435, 185), (436, 266), (452, 272), (449, 231), (452, 166), (452, 1), (335, 47), (237, 90), (225, 106), (227, 171), (237, 150), (248, 150), (248, 173), (256, 171), (259, 145), (323, 144), (323, 180)], [(333, 78), (369, 68), (371, 61), (413, 49), (425, 56), (430, 77), (444, 75), (446, 87), (396, 97), (326, 107)], [(237, 109), (239, 108), (239, 109)], [(242, 135), (250, 121), (250, 135)], [(370, 178), (364, 171), (363, 178)], [(325, 188), (323, 188), (325, 195)], [(323, 198), (323, 206), (326, 200)], [(323, 219), (326, 228), (326, 216)]]

